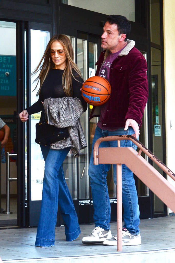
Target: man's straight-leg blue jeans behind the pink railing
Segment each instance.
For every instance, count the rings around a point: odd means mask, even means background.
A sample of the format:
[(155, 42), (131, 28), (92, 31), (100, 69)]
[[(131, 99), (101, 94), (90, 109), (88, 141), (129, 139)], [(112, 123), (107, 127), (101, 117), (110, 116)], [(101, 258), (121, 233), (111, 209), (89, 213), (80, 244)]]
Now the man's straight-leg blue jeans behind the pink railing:
[[(96, 128), (94, 139), (92, 142), (92, 149), (94, 148), (95, 141), (104, 136), (112, 135), (132, 135), (134, 133), (132, 127), (129, 127), (128, 130), (124, 128), (117, 129), (115, 131), (102, 130), (99, 127)], [(133, 147), (135, 150), (137, 146), (132, 143), (130, 140), (121, 140), (121, 147)], [(104, 141), (100, 144), (99, 147), (116, 147), (117, 141)], [(114, 168), (114, 182), (116, 184), (116, 165), (113, 165)], [(110, 169), (110, 164), (98, 164), (94, 165), (93, 161), (93, 151), (91, 153), (90, 164), (89, 164), (89, 177), (90, 185), (92, 190), (92, 199), (94, 205), (94, 222), (95, 226), (100, 226), (105, 230), (110, 229), (110, 199), (107, 189), (106, 176), (107, 171)], [(138, 206), (138, 197), (135, 186), (135, 180), (133, 178), (132, 171), (126, 166), (122, 165), (122, 203), (124, 208), (124, 225), (130, 233), (133, 235), (138, 235), (139, 230), (139, 206)]]

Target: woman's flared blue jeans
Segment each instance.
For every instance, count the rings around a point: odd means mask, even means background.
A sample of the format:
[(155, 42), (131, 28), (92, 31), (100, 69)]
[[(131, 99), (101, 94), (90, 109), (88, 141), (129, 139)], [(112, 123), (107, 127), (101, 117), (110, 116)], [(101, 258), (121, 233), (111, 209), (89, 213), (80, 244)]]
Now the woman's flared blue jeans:
[(49, 146), (41, 146), (41, 150), (45, 160), (45, 170), (35, 246), (50, 247), (55, 243), (58, 204), (65, 222), (66, 241), (75, 240), (80, 235), (80, 227), (62, 166), (70, 147), (53, 150), (49, 149)]

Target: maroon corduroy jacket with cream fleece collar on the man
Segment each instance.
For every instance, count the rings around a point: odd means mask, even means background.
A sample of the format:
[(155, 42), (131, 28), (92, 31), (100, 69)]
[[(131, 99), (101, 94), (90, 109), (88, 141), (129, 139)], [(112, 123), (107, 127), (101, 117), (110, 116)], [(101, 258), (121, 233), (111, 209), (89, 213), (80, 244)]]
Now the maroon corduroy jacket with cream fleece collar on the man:
[[(127, 119), (135, 120), (142, 126), (143, 112), (148, 99), (147, 63), (143, 55), (134, 47), (135, 42), (128, 44), (112, 62), (110, 69), (111, 96), (102, 127), (124, 128)], [(99, 71), (109, 50), (100, 54), (96, 62)], [(93, 106), (90, 119), (100, 115), (100, 106)]]

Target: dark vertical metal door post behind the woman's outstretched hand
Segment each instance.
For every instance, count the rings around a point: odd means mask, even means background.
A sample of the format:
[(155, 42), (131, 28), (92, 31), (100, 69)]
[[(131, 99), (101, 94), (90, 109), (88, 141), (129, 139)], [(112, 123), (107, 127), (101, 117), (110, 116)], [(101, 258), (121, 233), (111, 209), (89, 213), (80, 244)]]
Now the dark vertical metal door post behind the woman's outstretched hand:
[[(24, 29), (25, 22), (17, 23), (17, 113), (25, 106), (25, 56), (24, 56)], [(25, 213), (25, 124), (17, 114), (17, 224), (26, 226)]]

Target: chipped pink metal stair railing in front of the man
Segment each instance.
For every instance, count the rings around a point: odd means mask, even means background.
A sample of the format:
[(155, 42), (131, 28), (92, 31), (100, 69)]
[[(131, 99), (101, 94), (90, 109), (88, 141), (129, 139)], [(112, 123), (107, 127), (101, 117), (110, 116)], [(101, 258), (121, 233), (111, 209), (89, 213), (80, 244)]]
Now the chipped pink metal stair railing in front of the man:
[[(117, 140), (117, 147), (99, 147), (103, 141), (114, 140)], [(132, 147), (120, 147), (121, 140), (131, 140), (140, 149), (139, 152)], [(174, 186), (141, 156), (142, 151), (175, 181), (175, 174), (132, 135), (102, 137), (94, 144), (94, 165), (99, 163), (117, 165), (117, 251), (122, 251), (122, 164), (125, 164), (175, 213)]]

